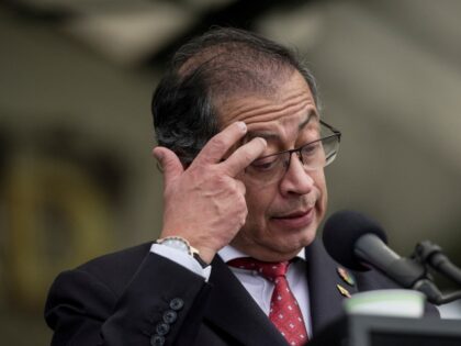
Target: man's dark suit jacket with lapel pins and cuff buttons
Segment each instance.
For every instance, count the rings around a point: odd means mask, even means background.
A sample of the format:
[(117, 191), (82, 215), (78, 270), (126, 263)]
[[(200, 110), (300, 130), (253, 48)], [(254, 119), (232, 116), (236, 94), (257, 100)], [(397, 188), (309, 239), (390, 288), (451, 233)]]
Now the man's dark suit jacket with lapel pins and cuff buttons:
[[(149, 248), (139, 245), (60, 274), (45, 308), (52, 345), (286, 345), (218, 256), (204, 282)], [(306, 261), (314, 336), (342, 314), (338, 283), (351, 294), (395, 287), (375, 271), (355, 274), (356, 284), (348, 286), (318, 241), (306, 248)]]

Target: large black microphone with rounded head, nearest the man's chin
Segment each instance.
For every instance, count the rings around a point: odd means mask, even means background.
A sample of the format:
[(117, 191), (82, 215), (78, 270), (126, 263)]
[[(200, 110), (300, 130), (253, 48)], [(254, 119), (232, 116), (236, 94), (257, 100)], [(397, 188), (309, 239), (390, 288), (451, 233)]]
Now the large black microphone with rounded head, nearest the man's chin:
[(328, 254), (353, 270), (380, 270), (404, 288), (420, 286), (426, 278), (423, 265), (398, 256), (387, 247), (382, 227), (353, 211), (340, 211), (325, 223), (323, 241)]

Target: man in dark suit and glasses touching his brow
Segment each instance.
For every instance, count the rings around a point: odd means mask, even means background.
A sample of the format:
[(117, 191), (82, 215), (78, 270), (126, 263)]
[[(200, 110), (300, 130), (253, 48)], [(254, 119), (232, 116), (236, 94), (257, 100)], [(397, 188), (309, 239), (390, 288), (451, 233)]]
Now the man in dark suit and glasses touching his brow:
[(53, 345), (304, 345), (347, 295), (393, 286), (353, 281), (315, 241), (340, 133), (286, 48), (212, 30), (176, 54), (153, 114), (160, 237), (61, 274)]

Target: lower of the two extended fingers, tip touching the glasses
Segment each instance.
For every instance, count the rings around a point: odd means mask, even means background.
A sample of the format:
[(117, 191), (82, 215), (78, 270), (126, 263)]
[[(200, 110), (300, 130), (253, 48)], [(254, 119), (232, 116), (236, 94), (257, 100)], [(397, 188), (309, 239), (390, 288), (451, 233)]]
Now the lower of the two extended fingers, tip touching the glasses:
[(247, 144), (236, 149), (224, 163), (221, 164), (231, 177), (235, 177), (249, 164), (257, 159), (266, 149), (267, 142), (263, 138), (252, 138)]

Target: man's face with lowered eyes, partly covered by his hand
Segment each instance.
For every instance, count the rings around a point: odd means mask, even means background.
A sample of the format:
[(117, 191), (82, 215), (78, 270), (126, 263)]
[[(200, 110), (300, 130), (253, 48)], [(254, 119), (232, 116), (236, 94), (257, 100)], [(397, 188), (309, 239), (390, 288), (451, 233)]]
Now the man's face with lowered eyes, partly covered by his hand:
[[(220, 108), (223, 127), (244, 121), (247, 139), (268, 142), (265, 155), (296, 148), (318, 138), (318, 113), (311, 90), (296, 71), (269, 97), (232, 98)], [(232, 245), (268, 261), (285, 260), (312, 243), (325, 215), (327, 190), (324, 170), (306, 171), (296, 154), (274, 182), (241, 172), (248, 216)]]

